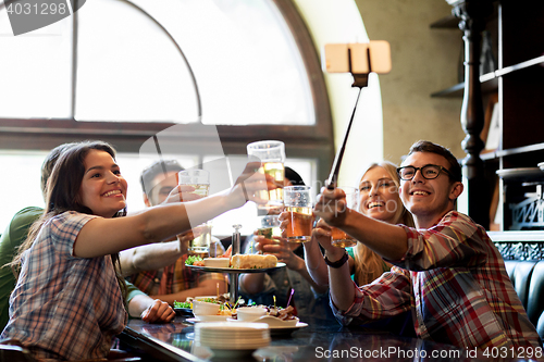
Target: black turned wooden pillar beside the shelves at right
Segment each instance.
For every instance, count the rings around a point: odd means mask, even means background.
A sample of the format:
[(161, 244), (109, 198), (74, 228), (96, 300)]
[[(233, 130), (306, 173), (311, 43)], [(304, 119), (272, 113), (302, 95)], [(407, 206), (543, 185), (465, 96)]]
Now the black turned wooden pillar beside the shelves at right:
[(467, 157), (462, 160), (463, 175), (468, 179), (466, 191), (469, 216), (486, 229), (490, 227), (491, 196), (484, 176), (480, 152), (484, 142), (480, 138), (484, 125), (482, 87), (480, 84), (480, 53), (485, 17), (493, 12), (491, 0), (447, 0), (459, 17), (459, 28), (465, 41), (465, 93), (461, 107), (461, 125), (467, 134), (461, 142)]

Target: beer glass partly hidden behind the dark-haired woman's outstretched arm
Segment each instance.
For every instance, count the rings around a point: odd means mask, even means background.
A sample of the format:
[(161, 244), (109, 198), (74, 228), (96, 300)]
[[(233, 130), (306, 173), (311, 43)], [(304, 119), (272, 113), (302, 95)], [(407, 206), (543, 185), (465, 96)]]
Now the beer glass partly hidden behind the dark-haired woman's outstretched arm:
[[(210, 190), (210, 173), (206, 170), (191, 168), (183, 170), (177, 173), (180, 185), (193, 186), (193, 191), (200, 197), (207, 197)], [(211, 227), (212, 222), (208, 221), (203, 224), (196, 226), (199, 234), (196, 238), (190, 240), (188, 251), (190, 254), (196, 254), (202, 258), (209, 255), (211, 245)]]

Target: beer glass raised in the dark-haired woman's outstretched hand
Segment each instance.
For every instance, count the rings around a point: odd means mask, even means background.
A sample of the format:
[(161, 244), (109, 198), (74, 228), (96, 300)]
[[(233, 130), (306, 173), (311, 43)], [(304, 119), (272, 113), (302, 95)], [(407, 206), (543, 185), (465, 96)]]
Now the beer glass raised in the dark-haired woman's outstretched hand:
[(283, 210), (285, 143), (277, 140), (252, 142), (247, 145), (247, 154), (255, 155), (262, 162), (259, 172), (272, 176), (277, 187), (273, 190), (260, 191), (259, 197), (268, 201), (257, 207), (257, 214), (259, 216), (280, 214)]

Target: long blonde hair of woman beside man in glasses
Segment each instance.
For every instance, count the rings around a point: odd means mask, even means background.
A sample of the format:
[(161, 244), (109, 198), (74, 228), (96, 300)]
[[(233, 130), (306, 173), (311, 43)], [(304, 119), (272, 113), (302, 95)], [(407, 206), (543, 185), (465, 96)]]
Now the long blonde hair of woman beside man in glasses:
[[(367, 172), (369, 172), (374, 167), (384, 168), (387, 172), (387, 174), (390, 174), (391, 179), (395, 184), (395, 187), (397, 188), (398, 191), (398, 187), (400, 186), (400, 179), (398, 178), (397, 166), (388, 161), (371, 163), (368, 167), (364, 168), (359, 180), (362, 179), (362, 177), (364, 177)], [(392, 224), (404, 224), (410, 227), (415, 226), (413, 219), (411, 214), (406, 210), (403, 202), (400, 201), (398, 192), (397, 192), (397, 211), (395, 213), (395, 220)], [(357, 242), (357, 245), (354, 247), (354, 254), (355, 254), (355, 279), (359, 285), (372, 283), (375, 278), (382, 275), (385, 270), (391, 269), (390, 263), (385, 262), (382, 259), (382, 257), (376, 254), (374, 251), (370, 250), (362, 242)]]

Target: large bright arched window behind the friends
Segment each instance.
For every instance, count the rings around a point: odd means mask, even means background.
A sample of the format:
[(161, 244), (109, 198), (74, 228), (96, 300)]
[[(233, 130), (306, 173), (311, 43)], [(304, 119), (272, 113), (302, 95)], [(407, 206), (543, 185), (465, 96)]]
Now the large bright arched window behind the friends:
[[(0, 24), (9, 35), (5, 8)], [(290, 0), (86, 1), (58, 23), (0, 37), (0, 49), (4, 160), (42, 160), (59, 143), (98, 138), (139, 166), (141, 145), (171, 129), (163, 146), (183, 143), (195, 163), (217, 137), (224, 154), (283, 140), (286, 163), (312, 180), (332, 163), (319, 57)], [(3, 220), (38, 201), (17, 198)]]

